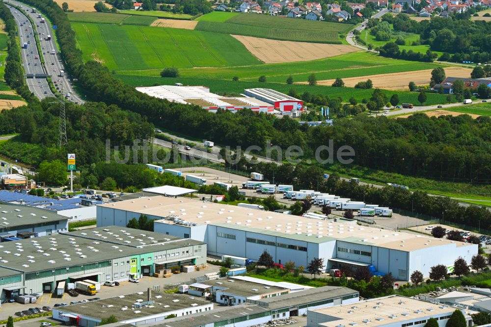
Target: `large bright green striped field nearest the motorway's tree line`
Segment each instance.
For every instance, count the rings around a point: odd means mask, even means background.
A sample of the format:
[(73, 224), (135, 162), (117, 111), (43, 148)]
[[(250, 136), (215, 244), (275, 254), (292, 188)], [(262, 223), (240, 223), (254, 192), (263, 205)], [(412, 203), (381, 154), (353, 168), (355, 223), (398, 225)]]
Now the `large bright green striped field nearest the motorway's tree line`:
[(84, 60), (110, 70), (162, 70), (260, 64), (230, 35), (195, 30), (72, 23)]

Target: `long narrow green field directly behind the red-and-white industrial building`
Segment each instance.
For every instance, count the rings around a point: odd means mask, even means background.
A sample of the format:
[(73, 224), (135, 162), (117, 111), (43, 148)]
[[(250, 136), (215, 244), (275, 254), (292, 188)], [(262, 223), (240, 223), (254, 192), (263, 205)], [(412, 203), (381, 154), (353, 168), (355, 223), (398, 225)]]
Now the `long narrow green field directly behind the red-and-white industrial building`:
[[(362, 90), (355, 89), (351, 87), (331, 87), (331, 86), (310, 86), (306, 84), (291, 84), (286, 83), (273, 83), (273, 82), (247, 82), (238, 81), (232, 82), (231, 80), (224, 79), (214, 79), (214, 78), (189, 78), (189, 77), (179, 77), (179, 78), (161, 78), (155, 76), (136, 76), (136, 75), (123, 75), (117, 74), (115, 76), (123, 80), (128, 85), (131, 86), (153, 86), (155, 84), (163, 85), (173, 85), (176, 82), (183, 83), (184, 85), (205, 85), (210, 87), (210, 91), (218, 94), (240, 94), (244, 92), (245, 88), (254, 87), (266, 87), (272, 88), (278, 92), (288, 93), (290, 89), (294, 89), (298, 94), (303, 92), (310, 92), (311, 94), (324, 94), (329, 97), (341, 97), (345, 102), (349, 98), (355, 97), (358, 101), (362, 99), (368, 99), (373, 93), (373, 90)], [(402, 102), (413, 103), (418, 105), (417, 92), (404, 92), (404, 91), (388, 91), (383, 90), (388, 98), (392, 94), (397, 93), (399, 95), (399, 100)], [(425, 105), (436, 105), (440, 103), (445, 103), (445, 95), (437, 93), (428, 93), (428, 100)]]

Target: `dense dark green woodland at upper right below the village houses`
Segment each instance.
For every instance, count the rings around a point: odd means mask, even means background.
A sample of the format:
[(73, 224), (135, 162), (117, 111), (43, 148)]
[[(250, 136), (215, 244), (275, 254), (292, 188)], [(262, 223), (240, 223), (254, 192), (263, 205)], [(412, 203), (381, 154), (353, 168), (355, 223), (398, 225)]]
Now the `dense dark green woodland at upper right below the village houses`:
[(421, 44), (429, 44), (433, 51), (447, 53), (444, 60), (488, 62), (491, 60), (491, 22), (469, 18), (466, 15), (457, 15), (453, 19), (434, 16), (431, 20), (417, 22), (406, 14), (382, 17), (393, 24), (395, 30), (419, 34)]

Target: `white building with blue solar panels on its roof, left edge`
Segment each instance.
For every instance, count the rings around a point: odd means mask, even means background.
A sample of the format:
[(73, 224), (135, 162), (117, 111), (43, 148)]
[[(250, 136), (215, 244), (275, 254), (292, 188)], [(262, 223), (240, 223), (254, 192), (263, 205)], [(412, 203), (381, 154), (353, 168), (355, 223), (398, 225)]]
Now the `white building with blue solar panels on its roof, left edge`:
[(102, 203), (102, 201), (87, 200), (80, 197), (56, 200), (11, 191), (0, 191), (0, 202), (46, 209), (48, 212), (67, 217), (72, 221), (96, 218), (97, 210), (95, 205)]

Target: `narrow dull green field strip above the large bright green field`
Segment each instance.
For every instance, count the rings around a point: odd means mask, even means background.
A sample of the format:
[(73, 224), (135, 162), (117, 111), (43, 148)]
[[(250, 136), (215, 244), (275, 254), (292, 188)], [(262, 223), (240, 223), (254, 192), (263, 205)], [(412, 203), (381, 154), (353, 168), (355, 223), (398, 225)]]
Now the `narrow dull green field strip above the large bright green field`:
[(150, 26), (157, 19), (153, 16), (124, 15), (110, 12), (69, 12), (67, 14), (71, 22), (79, 23)]

